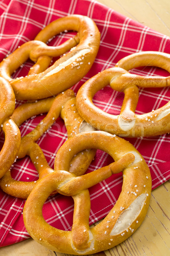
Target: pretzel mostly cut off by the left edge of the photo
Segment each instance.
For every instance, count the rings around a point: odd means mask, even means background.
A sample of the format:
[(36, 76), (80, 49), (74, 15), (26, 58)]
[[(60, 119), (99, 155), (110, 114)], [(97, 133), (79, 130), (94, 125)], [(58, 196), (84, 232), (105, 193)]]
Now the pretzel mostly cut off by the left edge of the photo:
[(0, 151), (0, 178), (8, 171), (20, 148), (20, 130), (9, 118), (15, 108), (15, 96), (11, 85), (0, 77), (0, 129), (5, 134)]

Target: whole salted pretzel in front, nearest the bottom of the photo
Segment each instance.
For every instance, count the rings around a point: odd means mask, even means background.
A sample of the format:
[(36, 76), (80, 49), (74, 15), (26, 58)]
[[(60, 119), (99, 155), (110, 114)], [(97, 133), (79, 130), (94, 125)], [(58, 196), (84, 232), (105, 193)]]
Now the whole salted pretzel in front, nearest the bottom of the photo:
[[(99, 148), (110, 154), (115, 162), (83, 176), (71, 174), (69, 162), (74, 154), (85, 148)], [(34, 187), (23, 209), (26, 229), (40, 244), (61, 253), (97, 253), (121, 243), (142, 223), (150, 201), (150, 170), (142, 155), (126, 140), (103, 131), (78, 134), (61, 146), (54, 170)], [(90, 228), (88, 188), (121, 171), (123, 185), (119, 199), (105, 219)], [(43, 204), (55, 190), (74, 199), (72, 231), (54, 228), (42, 216)]]

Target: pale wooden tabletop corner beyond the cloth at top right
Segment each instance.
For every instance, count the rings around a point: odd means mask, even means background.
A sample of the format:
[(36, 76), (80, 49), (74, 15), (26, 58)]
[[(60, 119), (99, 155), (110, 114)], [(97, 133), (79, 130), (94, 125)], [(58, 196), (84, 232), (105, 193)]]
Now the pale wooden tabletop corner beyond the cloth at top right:
[(170, 36), (169, 0), (98, 0), (133, 20)]

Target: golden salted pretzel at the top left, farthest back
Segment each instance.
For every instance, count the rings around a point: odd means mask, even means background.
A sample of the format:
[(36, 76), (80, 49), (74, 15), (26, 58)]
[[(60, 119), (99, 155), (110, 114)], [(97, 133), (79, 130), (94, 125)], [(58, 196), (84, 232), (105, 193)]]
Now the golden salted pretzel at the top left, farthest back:
[[(67, 30), (78, 33), (57, 47), (45, 44), (50, 38)], [(34, 41), (26, 42), (5, 58), (0, 63), (0, 76), (10, 82), (16, 99), (33, 100), (53, 96), (70, 88), (88, 73), (96, 58), (99, 43), (99, 30), (89, 17), (62, 17), (42, 29)], [(60, 55), (62, 57), (47, 68), (51, 57)], [(28, 58), (36, 62), (28, 76), (12, 79), (12, 73)]]

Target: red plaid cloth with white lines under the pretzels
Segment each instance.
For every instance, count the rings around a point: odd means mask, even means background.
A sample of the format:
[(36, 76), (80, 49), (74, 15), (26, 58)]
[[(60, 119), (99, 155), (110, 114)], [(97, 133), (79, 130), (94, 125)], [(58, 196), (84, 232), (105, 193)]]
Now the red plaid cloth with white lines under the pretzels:
[[(77, 83), (79, 87), (96, 73), (113, 67), (119, 59), (134, 52), (155, 50), (170, 53), (170, 38), (122, 16), (112, 9), (94, 0), (2, 0), (0, 1), (0, 60), (14, 51), (26, 41), (33, 40), (37, 33), (48, 23), (59, 17), (70, 14), (91, 17), (101, 32), (101, 45), (93, 67), (89, 73)], [(71, 32), (57, 36), (50, 45), (60, 44), (71, 37)], [(27, 62), (14, 77), (26, 74), (31, 67)], [(155, 67), (134, 69), (133, 73), (148, 76), (167, 76), (167, 72)], [(136, 113), (142, 114), (160, 108), (170, 100), (169, 88), (140, 89), (139, 104)], [(96, 93), (94, 103), (102, 110), (118, 114), (121, 109), (123, 94), (113, 91), (109, 86)], [(19, 102), (17, 104), (21, 104)], [(37, 116), (25, 122), (21, 135), (34, 128), (44, 117)], [(66, 138), (67, 133), (63, 121), (52, 125), (48, 134), (44, 134), (38, 144), (42, 148), (49, 165), (53, 168), (54, 158)], [(170, 162), (167, 152), (170, 147), (170, 136), (164, 134), (156, 137), (128, 139), (143, 155), (152, 175), (152, 188), (170, 178)], [(3, 145), (3, 136), (0, 143)], [(50, 146), (49, 146), (50, 145)], [(88, 171), (111, 163), (112, 159), (105, 152), (97, 151)], [(37, 172), (29, 157), (17, 160), (12, 168), (12, 177), (17, 180), (37, 180)], [(115, 204), (122, 186), (122, 175), (117, 174), (90, 188), (91, 212), (90, 224), (105, 217)], [(29, 238), (23, 224), (23, 206), (25, 200), (6, 195), (0, 190), (0, 246), (17, 243)], [(49, 197), (43, 208), (45, 220), (54, 227), (71, 230), (74, 204), (72, 198), (56, 195)]]

